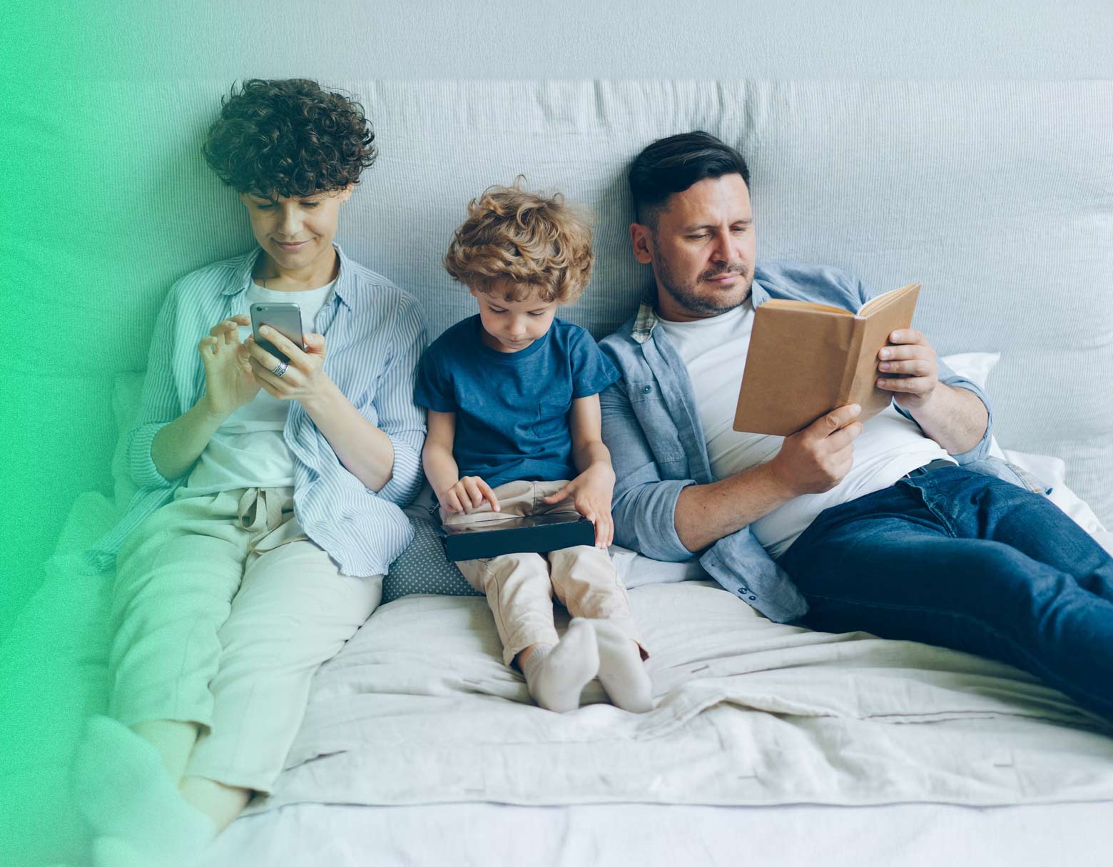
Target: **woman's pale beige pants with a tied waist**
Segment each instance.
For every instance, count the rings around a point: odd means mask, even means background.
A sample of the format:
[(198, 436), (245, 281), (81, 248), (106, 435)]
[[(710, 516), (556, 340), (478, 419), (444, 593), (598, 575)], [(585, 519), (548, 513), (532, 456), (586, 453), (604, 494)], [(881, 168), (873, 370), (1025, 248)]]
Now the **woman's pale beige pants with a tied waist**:
[(371, 617), (383, 579), (341, 574), (298, 526), (292, 489), (185, 490), (117, 558), (109, 712), (195, 722), (187, 775), (269, 792), (311, 678)]

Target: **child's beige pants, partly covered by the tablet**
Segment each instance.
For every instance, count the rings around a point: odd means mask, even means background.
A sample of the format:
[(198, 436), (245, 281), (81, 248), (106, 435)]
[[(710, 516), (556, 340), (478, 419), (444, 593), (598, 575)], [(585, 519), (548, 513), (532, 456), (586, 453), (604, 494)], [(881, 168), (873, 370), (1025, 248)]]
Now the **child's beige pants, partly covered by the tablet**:
[[(506, 482), (494, 489), (499, 514), (511, 516), (575, 512), (571, 500), (549, 505), (541, 502), (568, 482)], [(490, 521), (485, 502), (467, 514), (441, 510), (445, 526)], [(545, 559), (548, 558), (548, 563)], [(502, 639), (502, 658), (509, 666), (531, 644), (555, 644), (553, 591), (572, 617), (611, 620), (638, 642), (648, 657), (630, 613), (630, 599), (611, 558), (593, 545), (575, 545), (548, 554), (503, 554), (456, 563), (476, 590), (486, 593), (494, 624)]]

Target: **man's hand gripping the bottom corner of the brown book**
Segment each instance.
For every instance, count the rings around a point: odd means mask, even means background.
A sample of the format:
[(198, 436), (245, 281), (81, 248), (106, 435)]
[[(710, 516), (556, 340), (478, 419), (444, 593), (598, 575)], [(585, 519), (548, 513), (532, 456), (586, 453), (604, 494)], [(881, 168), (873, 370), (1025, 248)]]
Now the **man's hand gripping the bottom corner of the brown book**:
[(858, 404), (839, 406), (786, 436), (769, 469), (791, 496), (830, 491), (854, 465), (854, 441), (861, 433)]

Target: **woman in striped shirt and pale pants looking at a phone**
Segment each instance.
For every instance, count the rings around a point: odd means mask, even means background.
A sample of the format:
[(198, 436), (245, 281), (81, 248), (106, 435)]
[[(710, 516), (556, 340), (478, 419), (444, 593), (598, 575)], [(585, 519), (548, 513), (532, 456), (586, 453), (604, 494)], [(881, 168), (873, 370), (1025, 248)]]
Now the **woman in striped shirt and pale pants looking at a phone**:
[[(116, 564), (110, 717), (75, 762), (92, 861), (189, 860), (268, 792), (309, 681), (371, 615), (422, 482), (414, 299), (334, 244), (375, 157), (358, 104), (306, 80), (226, 99), (205, 156), (257, 245), (178, 280), (128, 437), (141, 489)], [(304, 346), (253, 303), (298, 305)]]

